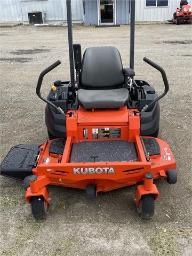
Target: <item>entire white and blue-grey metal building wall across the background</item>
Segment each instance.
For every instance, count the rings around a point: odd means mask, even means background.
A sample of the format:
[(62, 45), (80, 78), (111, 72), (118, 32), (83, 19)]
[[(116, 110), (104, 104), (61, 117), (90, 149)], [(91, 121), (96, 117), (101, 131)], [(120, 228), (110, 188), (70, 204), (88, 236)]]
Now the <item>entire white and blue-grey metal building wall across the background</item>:
[[(66, 0), (0, 0), (0, 21), (28, 23), (28, 12), (45, 11), (45, 22), (67, 21)], [(145, 7), (146, 0), (135, 0), (135, 21), (172, 19), (180, 0), (169, 0), (169, 7)], [(84, 2), (84, 9), (83, 9)], [(188, 0), (191, 5), (191, 0)], [(116, 0), (116, 24), (130, 23), (130, 0)], [(73, 22), (98, 24), (98, 0), (71, 0)], [(85, 14), (84, 14), (85, 10)]]

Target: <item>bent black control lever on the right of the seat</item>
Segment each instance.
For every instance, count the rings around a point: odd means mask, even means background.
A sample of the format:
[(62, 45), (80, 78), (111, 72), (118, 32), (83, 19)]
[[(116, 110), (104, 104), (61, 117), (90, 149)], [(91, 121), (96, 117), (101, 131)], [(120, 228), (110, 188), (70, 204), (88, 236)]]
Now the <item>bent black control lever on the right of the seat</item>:
[(155, 69), (157, 69), (159, 72), (161, 72), (161, 75), (162, 75), (162, 78), (163, 78), (163, 82), (164, 82), (164, 85), (165, 85), (165, 90), (164, 92), (162, 93), (162, 95), (160, 95), (159, 97), (157, 97), (155, 100), (151, 101), (149, 103), (149, 105), (146, 105), (145, 107), (143, 107), (143, 109), (141, 110), (142, 112), (145, 112), (151, 105), (153, 105), (155, 102), (157, 102), (158, 100), (162, 99), (166, 93), (169, 91), (169, 83), (167, 81), (167, 77), (166, 77), (166, 73), (165, 73), (165, 70), (157, 65), (155, 62), (153, 62), (152, 60), (149, 60), (147, 57), (144, 57), (143, 60), (145, 62), (147, 62), (151, 67), (154, 67)]

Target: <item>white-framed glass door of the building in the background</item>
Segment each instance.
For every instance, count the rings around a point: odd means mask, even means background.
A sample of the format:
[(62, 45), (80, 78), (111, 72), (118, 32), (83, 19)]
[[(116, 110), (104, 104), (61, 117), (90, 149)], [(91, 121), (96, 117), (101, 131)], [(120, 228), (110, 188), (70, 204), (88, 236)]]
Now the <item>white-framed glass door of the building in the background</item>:
[(114, 0), (100, 0), (100, 24), (114, 24)]

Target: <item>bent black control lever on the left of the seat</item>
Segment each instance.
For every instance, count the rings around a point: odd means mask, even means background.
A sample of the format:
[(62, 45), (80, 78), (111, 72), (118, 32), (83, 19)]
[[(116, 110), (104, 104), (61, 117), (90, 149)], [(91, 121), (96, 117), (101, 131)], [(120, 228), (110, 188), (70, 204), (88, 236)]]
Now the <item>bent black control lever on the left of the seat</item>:
[(38, 78), (37, 87), (36, 87), (36, 94), (37, 94), (37, 96), (38, 96), (41, 100), (45, 101), (47, 104), (49, 104), (51, 107), (53, 107), (53, 108), (55, 109), (55, 111), (57, 111), (57, 113), (65, 114), (65, 113), (63, 112), (63, 110), (62, 110), (60, 107), (56, 107), (51, 101), (49, 101), (49, 100), (43, 98), (42, 95), (41, 95), (41, 91), (40, 91), (40, 90), (41, 90), (41, 86), (42, 86), (42, 82), (43, 82), (44, 76), (45, 76), (47, 73), (49, 73), (52, 69), (54, 69), (54, 68), (56, 68), (57, 66), (59, 66), (60, 64), (61, 64), (61, 61), (58, 60), (58, 61), (54, 62), (51, 66), (49, 66), (48, 68), (46, 68), (46, 69), (44, 69), (44, 70), (42, 71), (42, 73), (39, 75), (39, 78)]

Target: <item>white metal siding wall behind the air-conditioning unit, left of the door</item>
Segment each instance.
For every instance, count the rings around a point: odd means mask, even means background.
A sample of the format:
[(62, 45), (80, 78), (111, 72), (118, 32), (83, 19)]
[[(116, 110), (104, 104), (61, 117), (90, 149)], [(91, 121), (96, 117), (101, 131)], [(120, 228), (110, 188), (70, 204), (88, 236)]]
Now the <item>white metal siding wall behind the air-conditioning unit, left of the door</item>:
[[(82, 0), (71, 1), (73, 22), (83, 21)], [(28, 12), (45, 11), (45, 23), (67, 21), (66, 0), (1, 0), (0, 21), (28, 22)]]

